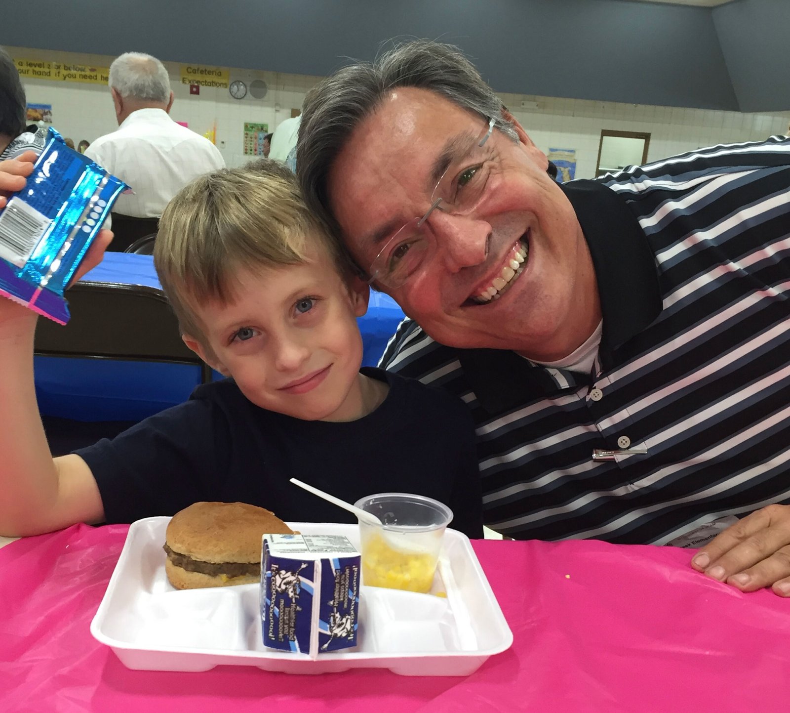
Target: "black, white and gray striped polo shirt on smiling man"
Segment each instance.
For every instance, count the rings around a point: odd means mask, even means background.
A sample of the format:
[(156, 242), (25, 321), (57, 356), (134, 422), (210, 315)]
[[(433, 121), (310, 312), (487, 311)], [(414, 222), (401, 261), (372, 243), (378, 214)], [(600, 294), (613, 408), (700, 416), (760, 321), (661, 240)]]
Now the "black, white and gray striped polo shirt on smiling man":
[(382, 357), (472, 410), (486, 524), (664, 544), (790, 503), (790, 141), (700, 149), (562, 190), (603, 312), (589, 375), (451, 349), (408, 320)]

